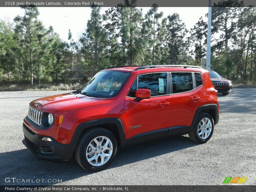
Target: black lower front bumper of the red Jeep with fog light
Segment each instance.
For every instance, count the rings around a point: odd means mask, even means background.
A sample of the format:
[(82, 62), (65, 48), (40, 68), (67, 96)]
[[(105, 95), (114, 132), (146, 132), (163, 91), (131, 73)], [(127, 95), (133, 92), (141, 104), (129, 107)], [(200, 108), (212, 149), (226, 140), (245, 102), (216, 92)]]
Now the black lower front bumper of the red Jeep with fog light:
[(53, 161), (68, 161), (73, 156), (75, 148), (72, 144), (61, 144), (54, 138), (48, 136), (52, 141), (42, 140), (46, 136), (34, 133), (24, 123), (23, 133), (25, 139), (22, 140), (22, 143), (37, 158)]

